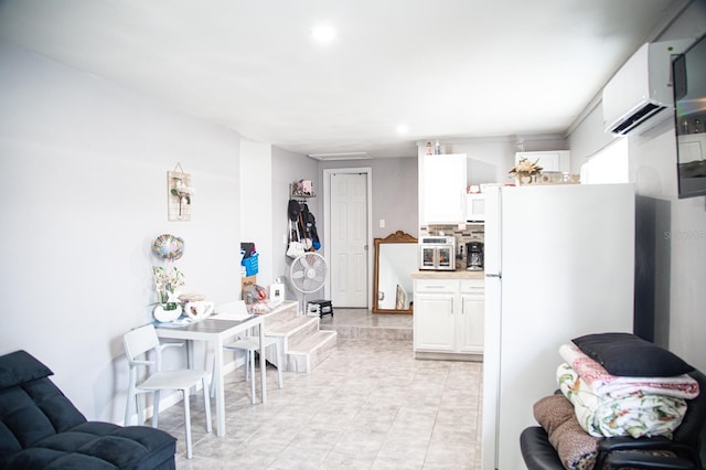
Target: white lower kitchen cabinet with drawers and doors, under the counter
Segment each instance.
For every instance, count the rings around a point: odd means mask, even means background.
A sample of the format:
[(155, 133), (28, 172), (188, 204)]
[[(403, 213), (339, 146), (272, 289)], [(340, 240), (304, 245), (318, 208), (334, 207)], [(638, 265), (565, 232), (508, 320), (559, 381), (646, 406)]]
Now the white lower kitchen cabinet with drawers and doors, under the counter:
[(483, 280), (416, 279), (414, 349), (417, 357), (483, 353)]

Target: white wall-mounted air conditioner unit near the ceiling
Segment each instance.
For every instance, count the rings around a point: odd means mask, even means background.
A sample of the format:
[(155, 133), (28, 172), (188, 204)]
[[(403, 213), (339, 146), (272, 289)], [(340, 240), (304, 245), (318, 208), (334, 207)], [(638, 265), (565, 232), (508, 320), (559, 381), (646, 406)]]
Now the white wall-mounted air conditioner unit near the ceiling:
[(672, 55), (681, 54), (693, 40), (644, 44), (603, 87), (606, 132), (630, 133), (671, 117)]

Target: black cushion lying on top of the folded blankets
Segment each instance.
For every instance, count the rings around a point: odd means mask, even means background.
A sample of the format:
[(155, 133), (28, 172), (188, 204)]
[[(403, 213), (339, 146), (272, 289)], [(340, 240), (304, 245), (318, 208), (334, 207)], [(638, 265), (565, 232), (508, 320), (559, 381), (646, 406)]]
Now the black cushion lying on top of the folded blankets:
[(612, 375), (671, 377), (694, 370), (674, 353), (630, 333), (587, 334), (571, 341)]

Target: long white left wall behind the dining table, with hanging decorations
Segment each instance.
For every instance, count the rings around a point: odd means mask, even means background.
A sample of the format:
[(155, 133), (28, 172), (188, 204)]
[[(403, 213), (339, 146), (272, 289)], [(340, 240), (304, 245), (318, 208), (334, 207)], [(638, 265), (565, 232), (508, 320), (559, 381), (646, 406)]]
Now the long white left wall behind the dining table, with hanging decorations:
[[(239, 296), (239, 136), (7, 42), (0, 103), (0, 353), (29, 351), (88, 418), (119, 423), (153, 238), (185, 239), (186, 291)], [(167, 221), (178, 162), (191, 222)]]

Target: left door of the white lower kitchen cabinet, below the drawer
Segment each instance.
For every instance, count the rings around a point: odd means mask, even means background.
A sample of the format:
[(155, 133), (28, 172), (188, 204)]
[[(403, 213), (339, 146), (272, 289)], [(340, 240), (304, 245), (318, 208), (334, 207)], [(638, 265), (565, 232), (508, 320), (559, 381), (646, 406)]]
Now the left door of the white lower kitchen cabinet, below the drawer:
[(452, 293), (415, 293), (415, 351), (453, 351)]

